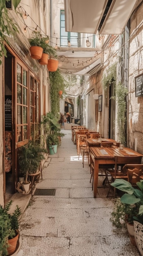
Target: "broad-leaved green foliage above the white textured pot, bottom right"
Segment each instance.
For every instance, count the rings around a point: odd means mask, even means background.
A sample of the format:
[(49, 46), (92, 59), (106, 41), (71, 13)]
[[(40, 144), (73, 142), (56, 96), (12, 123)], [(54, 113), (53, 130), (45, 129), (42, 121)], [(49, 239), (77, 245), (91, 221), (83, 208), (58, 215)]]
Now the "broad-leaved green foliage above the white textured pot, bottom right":
[(133, 207), (130, 214), (130, 222), (136, 220), (143, 224), (143, 180), (137, 182), (139, 189), (135, 189), (130, 182), (123, 179), (116, 179), (111, 186), (125, 192), (121, 197), (121, 203)]

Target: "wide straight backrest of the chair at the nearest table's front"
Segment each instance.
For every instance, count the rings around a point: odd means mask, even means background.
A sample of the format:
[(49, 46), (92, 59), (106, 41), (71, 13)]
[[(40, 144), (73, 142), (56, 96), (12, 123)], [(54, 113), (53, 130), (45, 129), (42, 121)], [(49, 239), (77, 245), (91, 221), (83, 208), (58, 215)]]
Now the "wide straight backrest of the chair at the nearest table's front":
[(121, 157), (121, 156), (115, 156), (115, 177), (118, 170), (118, 167), (121, 166), (121, 170), (123, 173), (127, 172), (125, 171), (125, 168), (123, 166), (125, 164), (141, 164), (142, 156), (127, 156), (127, 157)]

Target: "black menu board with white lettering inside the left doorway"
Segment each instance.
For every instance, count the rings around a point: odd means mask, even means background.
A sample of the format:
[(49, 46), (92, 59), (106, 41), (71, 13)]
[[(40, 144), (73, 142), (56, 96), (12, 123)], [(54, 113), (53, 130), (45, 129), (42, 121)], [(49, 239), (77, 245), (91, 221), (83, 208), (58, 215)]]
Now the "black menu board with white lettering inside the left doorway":
[(12, 96), (5, 95), (5, 130), (12, 130)]

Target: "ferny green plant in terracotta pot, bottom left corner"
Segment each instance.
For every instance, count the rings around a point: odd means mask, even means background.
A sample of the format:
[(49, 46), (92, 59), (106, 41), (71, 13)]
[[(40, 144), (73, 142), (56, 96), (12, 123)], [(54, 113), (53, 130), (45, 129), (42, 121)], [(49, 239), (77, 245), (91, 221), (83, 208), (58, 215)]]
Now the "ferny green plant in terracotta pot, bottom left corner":
[(19, 216), (21, 210), (17, 206), (13, 213), (9, 213), (12, 200), (3, 208), (0, 205), (0, 255), (7, 256), (15, 252), (19, 239)]

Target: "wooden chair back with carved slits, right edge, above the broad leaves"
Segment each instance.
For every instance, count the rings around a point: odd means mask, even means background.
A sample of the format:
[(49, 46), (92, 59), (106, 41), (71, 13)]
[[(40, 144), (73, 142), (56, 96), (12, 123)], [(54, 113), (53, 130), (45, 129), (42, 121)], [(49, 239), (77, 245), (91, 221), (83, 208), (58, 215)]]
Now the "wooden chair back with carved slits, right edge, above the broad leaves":
[(127, 172), (128, 182), (132, 186), (136, 186), (136, 182), (143, 180), (143, 164), (125, 164), (123, 170)]

